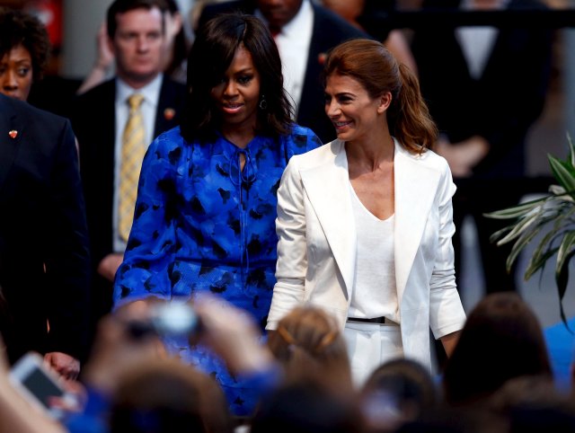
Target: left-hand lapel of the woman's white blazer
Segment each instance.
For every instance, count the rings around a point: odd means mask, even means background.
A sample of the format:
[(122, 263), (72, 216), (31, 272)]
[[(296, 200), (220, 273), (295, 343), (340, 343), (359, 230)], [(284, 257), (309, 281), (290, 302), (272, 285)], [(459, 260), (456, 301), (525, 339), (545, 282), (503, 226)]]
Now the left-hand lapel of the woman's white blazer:
[(348, 160), (343, 142), (332, 145), (334, 160), (301, 172), (305, 192), (351, 296), (356, 264), (356, 228), (349, 197)]

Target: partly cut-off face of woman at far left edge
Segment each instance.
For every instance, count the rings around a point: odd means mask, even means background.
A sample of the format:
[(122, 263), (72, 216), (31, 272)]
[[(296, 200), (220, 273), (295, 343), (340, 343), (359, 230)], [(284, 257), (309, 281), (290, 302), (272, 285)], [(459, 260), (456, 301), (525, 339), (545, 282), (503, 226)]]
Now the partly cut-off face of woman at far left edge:
[(26, 101), (32, 85), (32, 58), (22, 45), (0, 59), (0, 93)]

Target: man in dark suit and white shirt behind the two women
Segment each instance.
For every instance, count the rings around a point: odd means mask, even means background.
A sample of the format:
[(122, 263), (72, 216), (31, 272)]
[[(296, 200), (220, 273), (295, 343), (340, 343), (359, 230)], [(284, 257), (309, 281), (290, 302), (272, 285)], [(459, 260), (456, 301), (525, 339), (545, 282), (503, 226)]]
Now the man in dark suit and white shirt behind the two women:
[[(286, 90), (296, 105), (297, 123), (312, 128), (323, 143), (332, 141), (336, 134), (325, 115), (323, 61), (327, 51), (341, 42), (369, 36), (310, 0), (237, 0), (208, 4), (199, 18), (199, 27), (218, 13), (234, 11), (253, 13), (268, 23), (278, 44)], [(301, 66), (299, 62), (303, 62)]]

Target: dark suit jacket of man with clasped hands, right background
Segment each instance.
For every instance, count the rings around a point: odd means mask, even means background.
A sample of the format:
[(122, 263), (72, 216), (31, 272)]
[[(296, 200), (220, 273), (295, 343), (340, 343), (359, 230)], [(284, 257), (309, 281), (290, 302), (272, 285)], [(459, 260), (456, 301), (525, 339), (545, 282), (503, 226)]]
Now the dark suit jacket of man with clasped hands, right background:
[[(443, 2), (443, 4), (452, 2)], [(441, 4), (430, 0), (427, 5)], [(538, 7), (515, 0), (509, 8)], [(474, 171), (479, 177), (514, 177), (524, 172), (528, 128), (544, 108), (551, 69), (551, 32), (501, 29), (482, 76), (469, 74), (455, 28), (435, 27), (414, 33), (421, 92), (440, 132), (457, 142), (473, 135), (491, 144)]]

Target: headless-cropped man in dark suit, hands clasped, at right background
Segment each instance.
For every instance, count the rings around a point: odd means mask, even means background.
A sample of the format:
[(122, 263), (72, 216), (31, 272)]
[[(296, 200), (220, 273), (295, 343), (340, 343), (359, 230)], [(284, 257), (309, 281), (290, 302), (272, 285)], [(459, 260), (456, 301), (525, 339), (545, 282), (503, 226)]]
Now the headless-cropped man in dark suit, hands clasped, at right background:
[[(429, 0), (424, 5), (459, 3)], [(461, 3), (477, 10), (543, 7), (532, 0)], [(501, 29), (436, 25), (415, 31), (411, 45), (421, 92), (441, 135), (435, 150), (446, 157), (457, 184), (456, 269), (460, 228), (471, 215), (488, 293), (515, 289), (515, 276), (505, 269), (510, 250), (489, 241), (503, 225), (482, 214), (516, 205), (521, 196), (526, 134), (544, 108), (551, 69), (551, 32), (509, 24)]]

